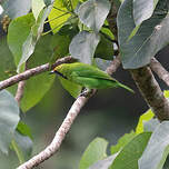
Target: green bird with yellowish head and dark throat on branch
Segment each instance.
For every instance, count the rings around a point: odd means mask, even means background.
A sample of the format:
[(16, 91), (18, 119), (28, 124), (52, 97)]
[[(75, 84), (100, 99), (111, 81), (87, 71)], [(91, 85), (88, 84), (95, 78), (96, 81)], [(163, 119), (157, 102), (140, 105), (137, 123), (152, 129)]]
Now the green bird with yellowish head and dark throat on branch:
[(132, 89), (120, 83), (118, 80), (111, 78), (105, 71), (90, 64), (81, 62), (62, 63), (51, 71), (51, 73), (53, 72), (87, 89), (105, 89), (121, 87), (133, 92)]

